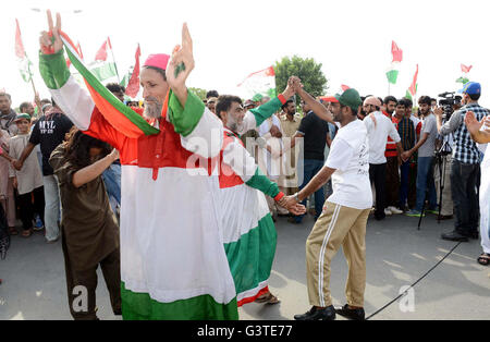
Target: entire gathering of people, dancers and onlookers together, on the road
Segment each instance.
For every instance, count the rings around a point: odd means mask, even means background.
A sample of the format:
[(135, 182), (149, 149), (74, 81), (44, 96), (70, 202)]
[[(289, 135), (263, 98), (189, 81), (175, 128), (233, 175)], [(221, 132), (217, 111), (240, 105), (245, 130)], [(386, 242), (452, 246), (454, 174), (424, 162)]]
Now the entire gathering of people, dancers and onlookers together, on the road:
[[(23, 237), (61, 237), (75, 319), (97, 319), (98, 266), (125, 319), (236, 319), (241, 305), (279, 303), (268, 279), (280, 216), (315, 219), (306, 241), (311, 309), (297, 320), (365, 318), (370, 213), (454, 219), (441, 237), (481, 237), (478, 262), (489, 264), (490, 115), (478, 83), (451, 110), (429, 96), (413, 103), (353, 88), (315, 98), (294, 75), (272, 98), (211, 90), (201, 100), (185, 86), (194, 59), (184, 25), (172, 56), (143, 64), (143, 108), (114, 110), (103, 95), (81, 91), (62, 66), (61, 21), (49, 24), (40, 71), (52, 98), (17, 113), (0, 94), (0, 249), (19, 234), (17, 218)], [(123, 87), (107, 89), (124, 101)], [(330, 264), (341, 246), (347, 304), (334, 308)], [(88, 290), (85, 310), (72, 305), (77, 285)]]

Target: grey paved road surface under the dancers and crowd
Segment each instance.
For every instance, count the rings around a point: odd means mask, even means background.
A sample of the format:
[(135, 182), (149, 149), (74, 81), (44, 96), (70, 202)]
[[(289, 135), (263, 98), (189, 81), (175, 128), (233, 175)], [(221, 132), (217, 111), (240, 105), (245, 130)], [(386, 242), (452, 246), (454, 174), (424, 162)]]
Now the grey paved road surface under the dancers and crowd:
[[(402, 286), (411, 285), (440, 261), (456, 243), (442, 241), (442, 231), (453, 221), (437, 223), (429, 215), (417, 231), (418, 219), (389, 217), (369, 219), (367, 228), (367, 285), (365, 309), (373, 314), (395, 298)], [(248, 304), (241, 319), (292, 319), (309, 309), (305, 278), (305, 241), (313, 227), (279, 218), (278, 249), (270, 289), (281, 298), (273, 306)], [(490, 317), (490, 268), (476, 262), (479, 241), (460, 244), (408, 296), (372, 317), (389, 319), (488, 319)], [(344, 304), (347, 267), (342, 252), (332, 262), (331, 290), (335, 305)], [(68, 309), (61, 244), (48, 245), (37, 233), (30, 239), (14, 236), (5, 260), (0, 260), (0, 319), (71, 319)], [(402, 291), (403, 292), (403, 291)], [(99, 272), (98, 315), (112, 315), (109, 294)], [(414, 301), (412, 301), (413, 298)], [(412, 305), (413, 304), (413, 305)]]

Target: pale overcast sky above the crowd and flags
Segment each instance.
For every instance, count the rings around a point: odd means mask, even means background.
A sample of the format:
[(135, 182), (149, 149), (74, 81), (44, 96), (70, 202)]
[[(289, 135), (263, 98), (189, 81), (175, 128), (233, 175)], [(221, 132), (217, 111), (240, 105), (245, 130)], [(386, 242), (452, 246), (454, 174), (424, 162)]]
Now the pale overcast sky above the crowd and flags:
[[(49, 93), (38, 73), (38, 36), (47, 29), (45, 10), (62, 15), (62, 29), (81, 42), (85, 61), (94, 59), (107, 36), (111, 38), (120, 74), (134, 65), (139, 42), (142, 59), (169, 52), (181, 40), (187, 22), (194, 40), (196, 68), (188, 86), (238, 94), (236, 85), (248, 74), (298, 54), (322, 63), (329, 94), (341, 84), (362, 95), (385, 96), (385, 72), (391, 41), (403, 50), (396, 85), (391, 94), (405, 95), (419, 64), (418, 94), (437, 96), (456, 90), (461, 63), (473, 65), (471, 81), (481, 83), (480, 103), (490, 106), (490, 34), (486, 1), (155, 1), (155, 0), (16, 0), (4, 7), (0, 21), (4, 48), (0, 56), (0, 88), (16, 107), (33, 99), (14, 54), (15, 17), (26, 52), (35, 64), (35, 84), (41, 98)], [(32, 9), (40, 9), (42, 13)], [(74, 10), (82, 10), (74, 14)], [(487, 96), (487, 89), (489, 89)], [(238, 94), (241, 95), (241, 94)], [(487, 105), (488, 103), (488, 105)]]

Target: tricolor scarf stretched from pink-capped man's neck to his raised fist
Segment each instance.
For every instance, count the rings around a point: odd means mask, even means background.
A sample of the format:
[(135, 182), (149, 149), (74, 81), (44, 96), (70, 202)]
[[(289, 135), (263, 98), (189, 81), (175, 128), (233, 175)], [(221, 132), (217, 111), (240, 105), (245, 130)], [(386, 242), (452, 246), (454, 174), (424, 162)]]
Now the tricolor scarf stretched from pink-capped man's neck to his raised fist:
[[(160, 132), (150, 125), (142, 115), (121, 102), (97, 80), (85, 65), (72, 39), (63, 32), (61, 32), (61, 40), (73, 66), (83, 76), (95, 106), (99, 108), (102, 115), (111, 122), (114, 129), (130, 138), (136, 138), (142, 133), (152, 135)], [(163, 114), (167, 113), (168, 101), (169, 95), (164, 101)]]

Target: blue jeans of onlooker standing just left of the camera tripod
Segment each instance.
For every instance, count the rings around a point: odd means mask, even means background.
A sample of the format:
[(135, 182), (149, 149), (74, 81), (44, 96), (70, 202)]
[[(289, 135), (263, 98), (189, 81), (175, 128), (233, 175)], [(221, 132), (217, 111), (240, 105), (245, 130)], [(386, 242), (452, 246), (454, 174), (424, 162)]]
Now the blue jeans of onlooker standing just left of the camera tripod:
[(417, 160), (417, 199), (415, 210), (421, 211), (424, 200), (429, 200), (428, 209), (434, 209), (438, 206), (436, 185), (433, 182), (433, 157), (418, 157)]

